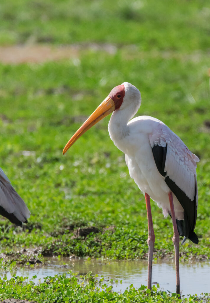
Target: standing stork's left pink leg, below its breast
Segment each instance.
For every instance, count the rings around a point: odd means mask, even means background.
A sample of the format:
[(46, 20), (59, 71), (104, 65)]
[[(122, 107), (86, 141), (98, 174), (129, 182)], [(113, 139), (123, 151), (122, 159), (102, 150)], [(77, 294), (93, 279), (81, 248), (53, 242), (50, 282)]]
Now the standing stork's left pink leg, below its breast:
[(148, 239), (147, 244), (149, 246), (148, 254), (148, 280), (147, 287), (151, 290), (152, 288), (152, 266), (153, 266), (153, 249), (155, 244), (155, 233), (153, 229), (153, 218), (151, 212), (150, 198), (147, 193), (145, 193), (146, 200), (146, 212), (147, 212), (147, 221), (148, 221)]

